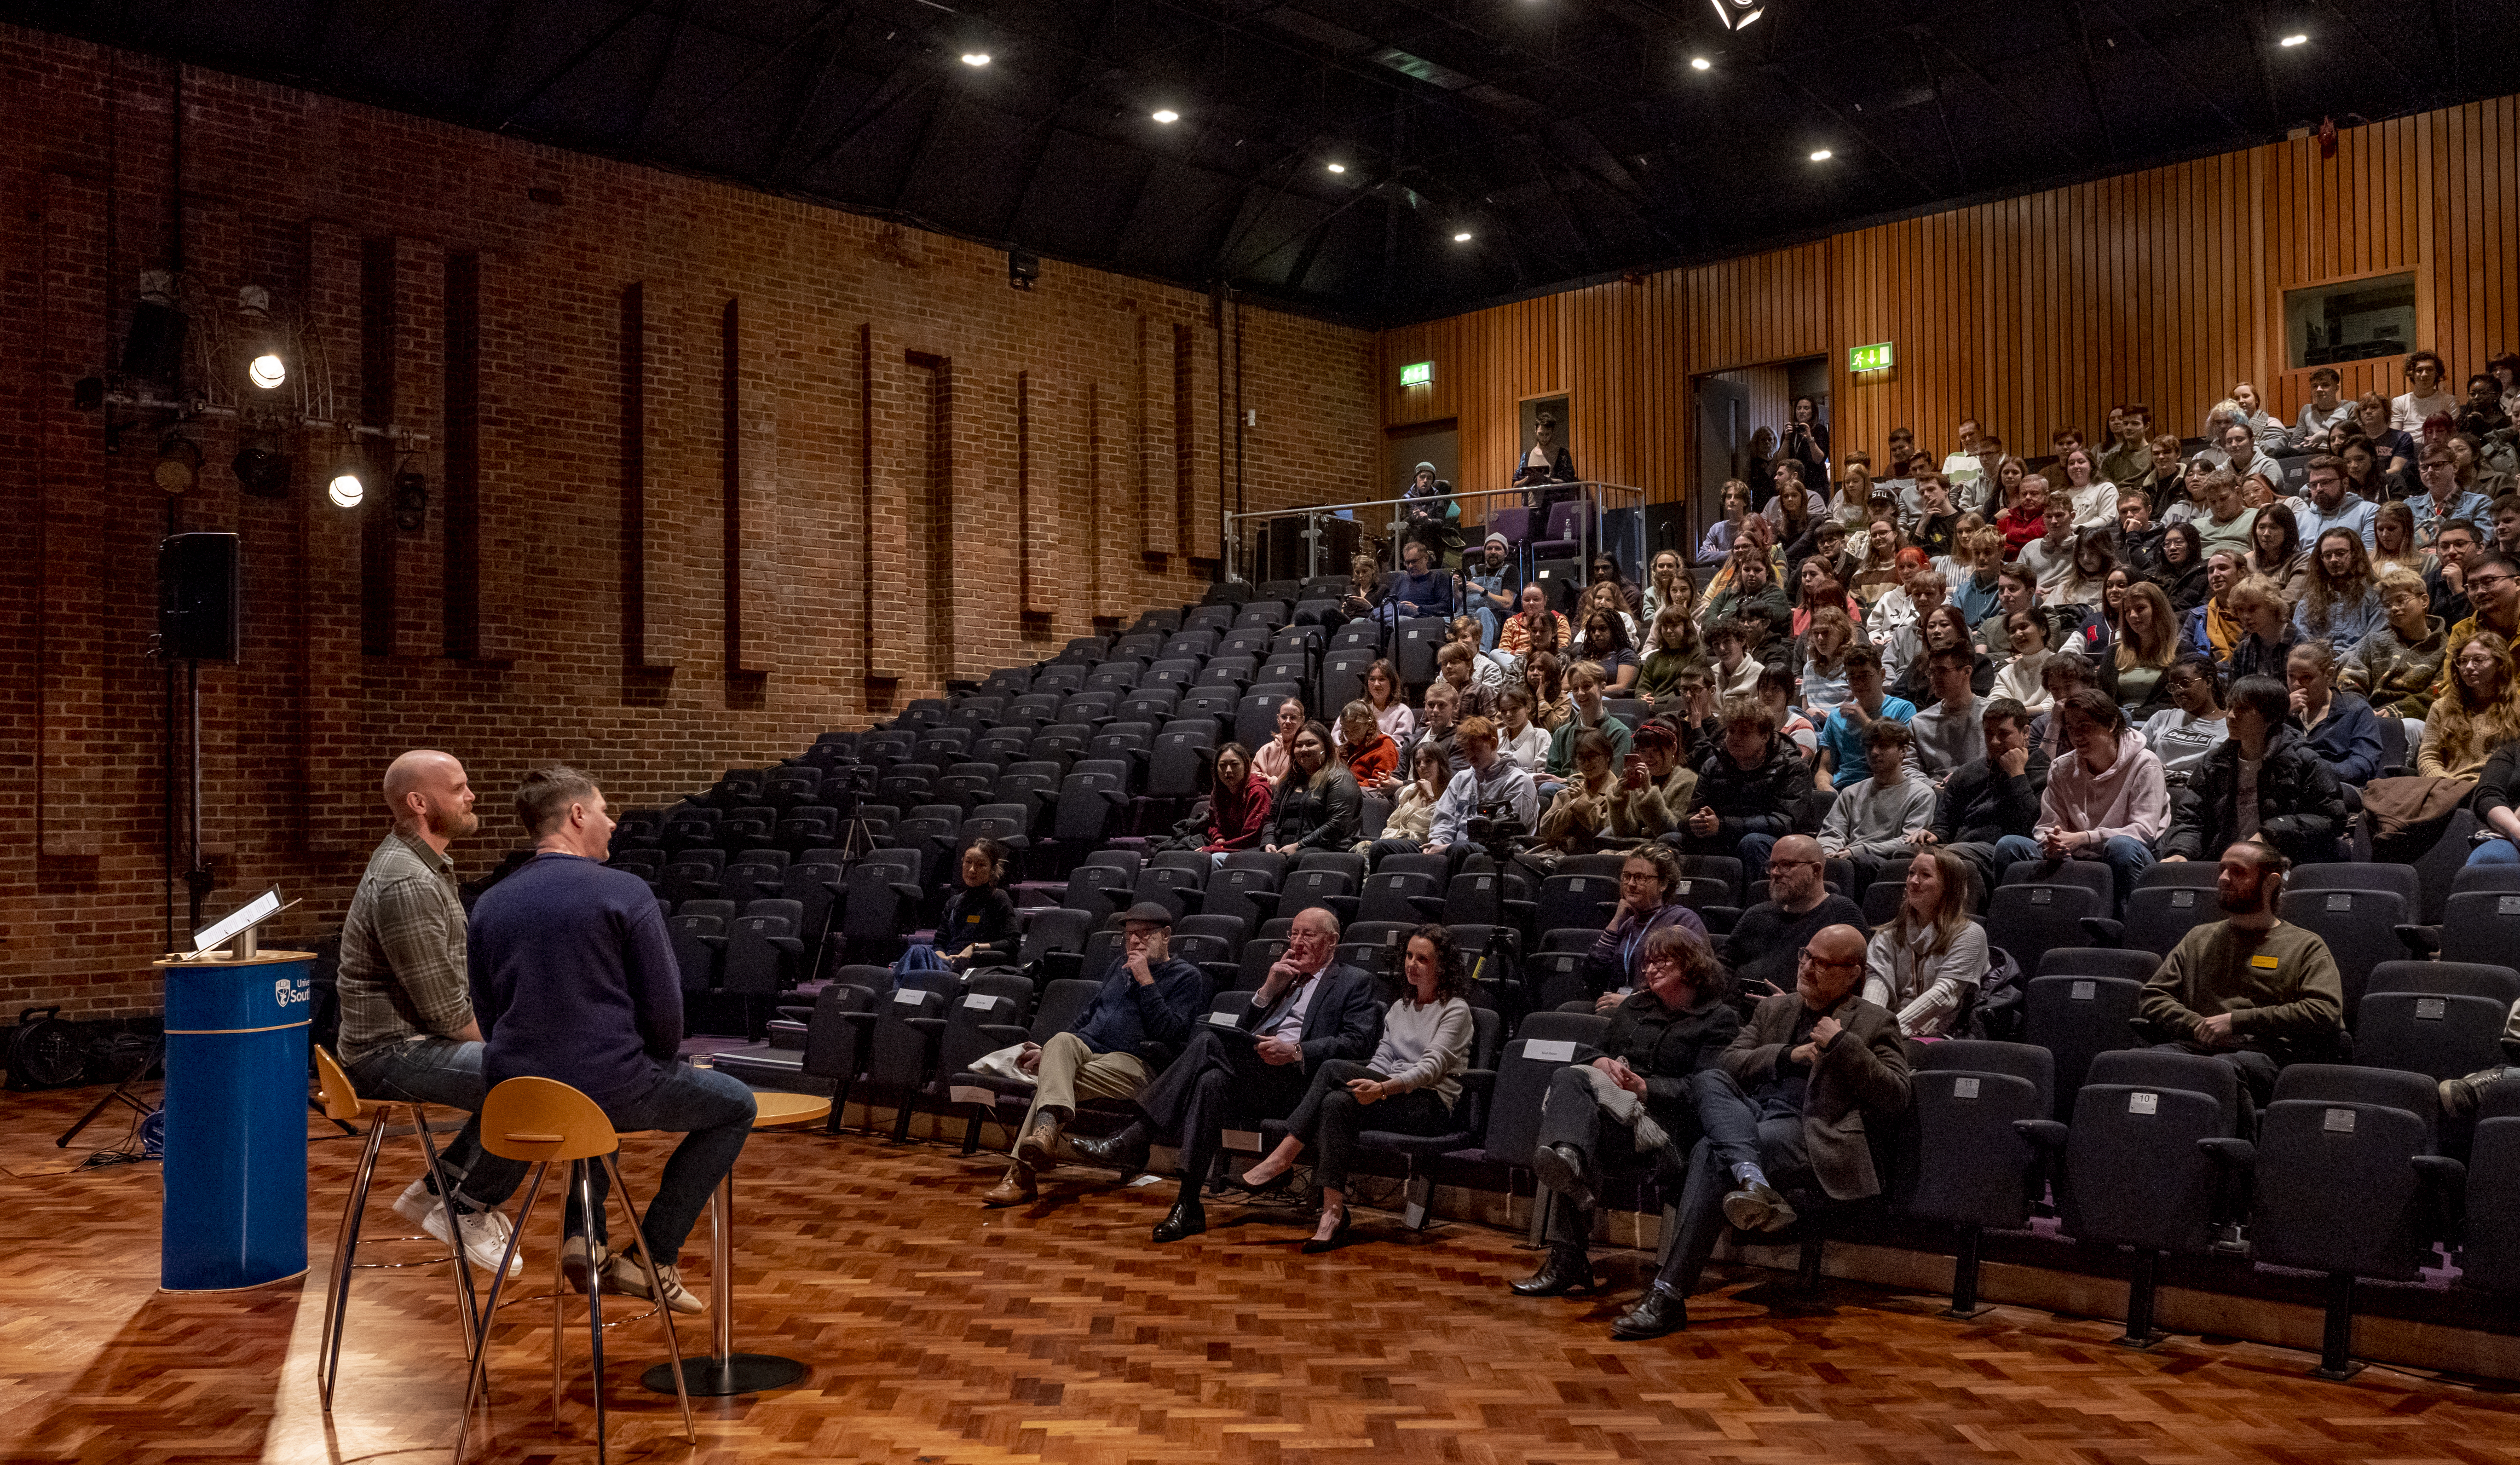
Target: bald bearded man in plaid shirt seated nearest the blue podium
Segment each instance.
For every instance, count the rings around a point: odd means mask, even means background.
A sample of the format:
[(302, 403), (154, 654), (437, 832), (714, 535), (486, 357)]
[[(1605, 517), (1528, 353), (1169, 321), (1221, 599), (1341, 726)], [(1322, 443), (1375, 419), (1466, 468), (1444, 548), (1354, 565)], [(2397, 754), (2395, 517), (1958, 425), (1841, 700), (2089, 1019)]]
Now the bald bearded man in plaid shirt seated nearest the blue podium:
[[(474, 1021), (464, 900), (446, 847), (481, 827), (464, 764), (451, 754), (413, 749), (386, 769), (393, 832), (368, 857), (350, 913), (340, 923), (343, 1072), (368, 1099), (446, 1104), (471, 1115), (446, 1145), (441, 1167), (454, 1183), (464, 1251), (476, 1266), (507, 1253), (499, 1205), (524, 1180), (524, 1162), (481, 1150), (481, 1024)], [(393, 1203), (396, 1215), (454, 1246), (446, 1203), (428, 1175)], [(509, 1276), (524, 1271), (519, 1258)]]

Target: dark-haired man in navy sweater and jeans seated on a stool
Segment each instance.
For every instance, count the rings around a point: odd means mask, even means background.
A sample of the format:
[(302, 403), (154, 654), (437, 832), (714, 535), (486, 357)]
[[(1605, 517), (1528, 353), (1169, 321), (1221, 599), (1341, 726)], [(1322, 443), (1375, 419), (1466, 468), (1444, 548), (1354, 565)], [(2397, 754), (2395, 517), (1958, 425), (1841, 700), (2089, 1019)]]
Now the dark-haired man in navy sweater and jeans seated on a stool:
[[(612, 847), (602, 789), (570, 767), (534, 769), (517, 789), (517, 817), (534, 835), (534, 857), (471, 913), (471, 999), (489, 1034), (481, 1077), (491, 1087), (557, 1079), (595, 1099), (615, 1130), (683, 1135), (648, 1198), (640, 1243), (665, 1304), (706, 1311), (673, 1263), (753, 1132), (753, 1092), (731, 1074), (675, 1062), (683, 973), (655, 893), (602, 865)], [(605, 1251), (610, 1183), (602, 1167), (592, 1180), (595, 1241), (572, 1190), (562, 1273), (580, 1291), (602, 1278), (605, 1291), (648, 1296), (638, 1261)]]

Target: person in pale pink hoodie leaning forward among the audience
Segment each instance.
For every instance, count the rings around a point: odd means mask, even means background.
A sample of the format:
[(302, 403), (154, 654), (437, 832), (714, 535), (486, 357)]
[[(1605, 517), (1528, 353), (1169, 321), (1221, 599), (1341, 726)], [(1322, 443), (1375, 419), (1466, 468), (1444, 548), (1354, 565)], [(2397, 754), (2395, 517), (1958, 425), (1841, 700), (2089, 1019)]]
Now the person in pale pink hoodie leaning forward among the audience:
[(1996, 865), (2107, 860), (2117, 877), (2117, 910), (2124, 910), (2137, 875), (2155, 865), (2152, 845), (2170, 827), (2162, 759), (2152, 756), (2145, 736), (2127, 726), (2127, 714), (2097, 686), (2059, 696), (2056, 719), (2071, 751), (2049, 767), (2031, 832), (1996, 840)]

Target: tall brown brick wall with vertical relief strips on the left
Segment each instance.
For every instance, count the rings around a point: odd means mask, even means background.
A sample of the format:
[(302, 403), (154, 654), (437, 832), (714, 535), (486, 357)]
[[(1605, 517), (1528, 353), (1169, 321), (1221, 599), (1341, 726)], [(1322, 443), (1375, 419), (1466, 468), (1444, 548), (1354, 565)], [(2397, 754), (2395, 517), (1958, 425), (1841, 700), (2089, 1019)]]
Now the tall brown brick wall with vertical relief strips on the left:
[[(975, 245), (202, 71), (189, 277), (300, 308), (338, 414), (391, 403), (431, 441), (290, 431), (275, 502), (237, 492), (234, 421), (197, 419), (169, 514), (164, 419), (108, 451), (71, 386), (169, 262), (171, 91), (169, 63), (0, 28), (0, 1021), (156, 1006), (169, 527), (242, 535), (244, 658), (202, 671), (209, 908), (280, 883), (282, 941), (340, 918), (401, 749), (484, 792), (469, 875), (537, 761), (665, 802), (932, 693), (948, 646), (958, 676), (1038, 661), (1207, 577), (1232, 424), (1205, 295), (1058, 262), (1016, 292)], [(1242, 320), (1250, 507), (1368, 487), (1371, 335)], [(358, 512), (323, 499), (343, 451)], [(398, 466), (428, 479), (416, 535)]]

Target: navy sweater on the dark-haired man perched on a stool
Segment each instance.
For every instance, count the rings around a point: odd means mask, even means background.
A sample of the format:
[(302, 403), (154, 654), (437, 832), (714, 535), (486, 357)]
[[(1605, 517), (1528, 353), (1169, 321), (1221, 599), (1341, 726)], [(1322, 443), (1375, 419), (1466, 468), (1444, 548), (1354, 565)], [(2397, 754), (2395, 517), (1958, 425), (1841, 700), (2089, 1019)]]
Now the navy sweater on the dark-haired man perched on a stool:
[(481, 1077), (559, 1079), (630, 1104), (683, 1041), (683, 976), (655, 893), (627, 870), (534, 855), (471, 913)]

